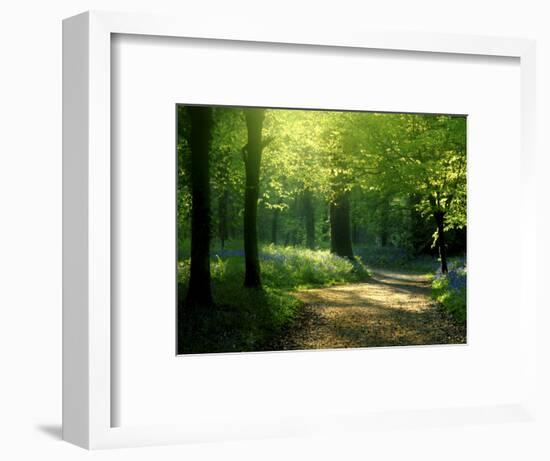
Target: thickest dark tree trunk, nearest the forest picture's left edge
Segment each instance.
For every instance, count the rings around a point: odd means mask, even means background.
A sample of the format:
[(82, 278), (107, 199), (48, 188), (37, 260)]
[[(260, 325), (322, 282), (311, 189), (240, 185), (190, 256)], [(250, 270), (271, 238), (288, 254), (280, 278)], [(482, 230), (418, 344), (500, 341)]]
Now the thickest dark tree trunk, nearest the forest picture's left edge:
[(191, 267), (186, 308), (212, 305), (210, 287), (210, 181), (208, 156), (212, 109), (189, 107), (191, 150)]

